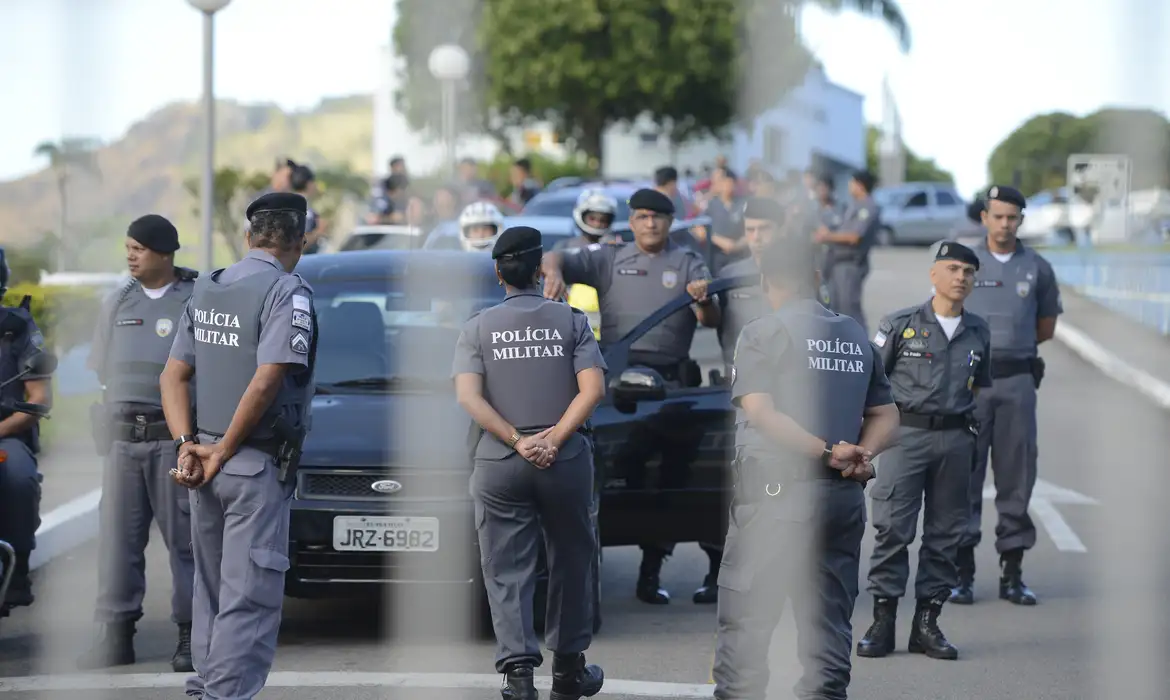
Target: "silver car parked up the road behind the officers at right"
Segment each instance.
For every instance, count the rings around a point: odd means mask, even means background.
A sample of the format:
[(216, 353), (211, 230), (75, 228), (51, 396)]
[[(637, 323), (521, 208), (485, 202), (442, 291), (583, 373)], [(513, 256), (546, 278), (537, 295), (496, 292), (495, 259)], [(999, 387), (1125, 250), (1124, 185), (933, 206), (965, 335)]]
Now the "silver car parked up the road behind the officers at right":
[(881, 207), (878, 242), (882, 246), (930, 245), (966, 221), (966, 203), (949, 183), (879, 187), (873, 197)]

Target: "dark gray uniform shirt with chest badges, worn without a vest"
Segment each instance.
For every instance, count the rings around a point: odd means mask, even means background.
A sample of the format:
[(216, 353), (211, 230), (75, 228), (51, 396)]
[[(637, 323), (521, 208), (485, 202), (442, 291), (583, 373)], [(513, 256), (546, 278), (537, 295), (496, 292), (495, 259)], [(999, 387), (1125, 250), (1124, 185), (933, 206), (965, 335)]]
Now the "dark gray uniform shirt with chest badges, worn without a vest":
[(908, 413), (970, 413), (975, 387), (991, 386), (991, 329), (970, 311), (950, 339), (929, 301), (894, 311), (878, 325), (874, 345), (894, 400)]

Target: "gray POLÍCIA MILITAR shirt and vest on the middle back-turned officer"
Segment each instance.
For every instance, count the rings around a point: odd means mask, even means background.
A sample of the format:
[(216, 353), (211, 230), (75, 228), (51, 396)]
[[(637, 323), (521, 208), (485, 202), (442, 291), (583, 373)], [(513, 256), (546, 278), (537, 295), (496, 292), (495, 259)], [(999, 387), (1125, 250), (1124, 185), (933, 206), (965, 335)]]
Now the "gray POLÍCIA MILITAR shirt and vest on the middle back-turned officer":
[[(608, 369), (585, 314), (522, 291), (468, 318), (455, 344), (452, 377), (484, 377), (484, 399), (517, 430), (535, 430), (560, 419), (578, 393), (577, 375), (592, 368)], [(517, 425), (522, 420), (538, 425)], [(560, 453), (567, 459), (581, 447), (584, 439), (577, 435)], [(475, 457), (496, 460), (511, 453), (484, 432)]]

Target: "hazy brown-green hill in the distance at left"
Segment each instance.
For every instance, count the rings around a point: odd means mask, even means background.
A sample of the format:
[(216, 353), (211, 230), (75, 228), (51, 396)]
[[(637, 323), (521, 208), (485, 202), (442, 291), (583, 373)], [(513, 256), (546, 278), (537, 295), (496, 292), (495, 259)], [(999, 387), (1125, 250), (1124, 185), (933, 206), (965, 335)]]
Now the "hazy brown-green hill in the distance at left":
[[(198, 103), (168, 104), (96, 151), (99, 178), (76, 172), (69, 183), (70, 240), (99, 253), (91, 267), (117, 258), (130, 220), (159, 213), (194, 242), (198, 219), (183, 183), (198, 177), (202, 158), (202, 115)], [(271, 104), (220, 102), (216, 109), (216, 167), (268, 171), (278, 156), (321, 167), (349, 165), (372, 171), (373, 101), (367, 95), (325, 99), (315, 109), (287, 114)], [(46, 170), (0, 183), (0, 243), (26, 247), (58, 217), (56, 179)], [(84, 241), (84, 242), (82, 242)], [(193, 248), (193, 246), (192, 246)], [(187, 252), (187, 251), (185, 251)], [(191, 249), (192, 259), (194, 251)], [(193, 261), (193, 260), (192, 260)]]

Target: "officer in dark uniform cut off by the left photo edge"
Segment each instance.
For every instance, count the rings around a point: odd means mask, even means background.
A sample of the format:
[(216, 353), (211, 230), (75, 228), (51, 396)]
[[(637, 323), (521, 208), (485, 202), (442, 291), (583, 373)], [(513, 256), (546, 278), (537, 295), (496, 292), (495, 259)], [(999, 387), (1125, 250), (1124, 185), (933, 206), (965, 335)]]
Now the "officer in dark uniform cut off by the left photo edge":
[[(0, 297), (8, 290), (11, 274), (0, 248)], [(32, 298), (26, 296), (19, 307), (0, 307), (0, 383), (8, 382), (0, 389), (0, 399), (48, 405), (51, 402), (48, 375), (28, 373), (9, 382), (44, 351), (44, 336), (33, 321), (29, 302)], [(0, 411), (0, 451), (8, 455), (0, 464), (0, 540), (8, 542), (16, 555), (8, 592), (0, 601), (0, 617), (36, 601), (28, 558), (36, 548), (36, 530), (41, 527), (37, 420), (29, 413)]]

